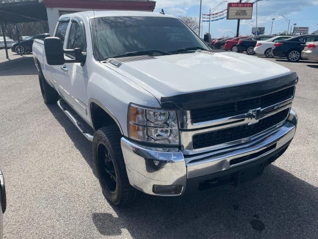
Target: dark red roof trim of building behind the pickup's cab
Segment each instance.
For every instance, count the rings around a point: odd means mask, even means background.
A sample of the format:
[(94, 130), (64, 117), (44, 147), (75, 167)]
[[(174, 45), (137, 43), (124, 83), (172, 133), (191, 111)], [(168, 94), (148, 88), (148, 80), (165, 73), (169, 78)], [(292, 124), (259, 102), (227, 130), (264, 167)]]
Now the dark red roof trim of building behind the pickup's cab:
[(43, 0), (46, 7), (112, 9), (112, 10), (150, 10), (156, 1), (103, 1), (103, 0)]

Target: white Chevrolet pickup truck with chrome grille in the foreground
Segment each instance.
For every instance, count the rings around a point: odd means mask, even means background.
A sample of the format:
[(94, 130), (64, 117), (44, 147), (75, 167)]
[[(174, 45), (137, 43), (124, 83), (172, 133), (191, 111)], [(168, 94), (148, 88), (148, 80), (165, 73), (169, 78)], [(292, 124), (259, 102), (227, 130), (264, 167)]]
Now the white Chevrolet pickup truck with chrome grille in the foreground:
[(214, 52), (170, 15), (62, 15), (54, 37), (35, 40), (33, 56), (44, 102), (57, 102), (92, 141), (103, 194), (115, 205), (139, 192), (237, 186), (282, 155), (296, 131), (296, 73)]

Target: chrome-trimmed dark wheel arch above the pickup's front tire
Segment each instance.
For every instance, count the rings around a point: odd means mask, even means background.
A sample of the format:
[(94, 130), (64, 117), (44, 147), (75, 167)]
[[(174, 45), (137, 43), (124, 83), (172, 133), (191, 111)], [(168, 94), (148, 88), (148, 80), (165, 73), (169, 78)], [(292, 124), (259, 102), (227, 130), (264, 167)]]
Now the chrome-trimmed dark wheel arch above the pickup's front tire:
[[(99, 101), (90, 98), (89, 99), (89, 116), (94, 130), (105, 125), (117, 125), (120, 133), (124, 135), (123, 129), (115, 117), (115, 115)], [(98, 117), (100, 116), (100, 117)]]

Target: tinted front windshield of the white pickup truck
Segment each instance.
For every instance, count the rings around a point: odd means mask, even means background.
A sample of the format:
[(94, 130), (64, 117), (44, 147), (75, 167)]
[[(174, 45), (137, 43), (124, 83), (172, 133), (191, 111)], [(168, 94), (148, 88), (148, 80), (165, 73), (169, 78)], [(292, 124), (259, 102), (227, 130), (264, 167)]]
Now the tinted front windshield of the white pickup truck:
[(181, 20), (172, 17), (98, 17), (92, 19), (92, 30), (94, 40), (97, 39), (95, 52), (102, 59), (154, 49), (162, 52), (190, 47), (209, 49)]

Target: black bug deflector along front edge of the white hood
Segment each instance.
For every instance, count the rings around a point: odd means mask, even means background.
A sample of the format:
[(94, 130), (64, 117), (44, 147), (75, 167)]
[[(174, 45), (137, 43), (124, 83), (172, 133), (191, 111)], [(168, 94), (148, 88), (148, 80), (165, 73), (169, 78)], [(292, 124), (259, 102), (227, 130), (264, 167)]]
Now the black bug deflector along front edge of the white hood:
[(163, 109), (191, 110), (264, 96), (295, 86), (297, 83), (298, 76), (293, 72), (286, 76), (262, 82), (161, 97), (160, 102)]

